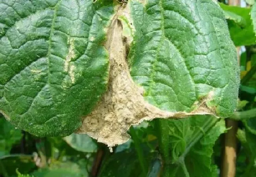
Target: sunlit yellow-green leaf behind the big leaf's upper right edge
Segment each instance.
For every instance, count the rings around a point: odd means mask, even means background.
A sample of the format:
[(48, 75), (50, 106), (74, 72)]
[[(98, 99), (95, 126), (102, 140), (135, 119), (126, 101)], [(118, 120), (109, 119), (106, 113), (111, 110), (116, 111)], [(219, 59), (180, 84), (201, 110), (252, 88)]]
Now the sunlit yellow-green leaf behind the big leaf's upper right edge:
[(245, 28), (241, 28), (233, 20), (228, 20), (228, 27), (230, 31), (230, 36), (232, 41), (236, 46), (249, 46), (256, 43), (256, 37), (253, 30), (252, 20), (250, 17), (251, 9), (249, 7), (237, 7), (237, 6), (227, 6), (219, 3), (224, 11), (235, 13), (241, 16), (246, 21)]

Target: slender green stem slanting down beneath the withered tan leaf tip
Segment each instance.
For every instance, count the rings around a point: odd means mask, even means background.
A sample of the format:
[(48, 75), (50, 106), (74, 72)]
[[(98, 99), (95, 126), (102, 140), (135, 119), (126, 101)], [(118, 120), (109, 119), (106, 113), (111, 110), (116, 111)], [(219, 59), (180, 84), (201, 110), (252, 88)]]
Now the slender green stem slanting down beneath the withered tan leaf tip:
[(133, 126), (130, 127), (130, 135), (132, 136), (132, 140), (134, 140), (134, 146), (135, 146), (138, 158), (139, 158), (139, 163), (141, 165), (143, 176), (147, 176), (147, 171), (148, 171), (147, 163), (144, 159), (143, 150), (140, 146), (141, 143), (139, 142), (139, 138), (138, 138)]

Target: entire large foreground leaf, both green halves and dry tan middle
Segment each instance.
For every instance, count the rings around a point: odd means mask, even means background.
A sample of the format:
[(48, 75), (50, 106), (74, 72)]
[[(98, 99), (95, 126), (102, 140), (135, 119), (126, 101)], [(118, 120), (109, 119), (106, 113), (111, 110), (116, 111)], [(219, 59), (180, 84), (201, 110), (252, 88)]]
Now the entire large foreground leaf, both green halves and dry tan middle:
[(212, 0), (48, 1), (2, 2), (0, 111), (15, 126), (115, 146), (143, 120), (234, 112), (237, 54)]

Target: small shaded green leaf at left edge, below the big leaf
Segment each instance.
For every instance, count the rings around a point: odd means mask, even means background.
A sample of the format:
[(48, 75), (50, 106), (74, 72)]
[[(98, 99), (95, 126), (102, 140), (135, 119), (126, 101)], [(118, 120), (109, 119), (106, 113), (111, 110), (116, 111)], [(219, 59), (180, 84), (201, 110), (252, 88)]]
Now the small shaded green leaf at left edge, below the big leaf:
[(0, 115), (0, 157), (9, 154), (12, 146), (19, 142), (22, 133)]

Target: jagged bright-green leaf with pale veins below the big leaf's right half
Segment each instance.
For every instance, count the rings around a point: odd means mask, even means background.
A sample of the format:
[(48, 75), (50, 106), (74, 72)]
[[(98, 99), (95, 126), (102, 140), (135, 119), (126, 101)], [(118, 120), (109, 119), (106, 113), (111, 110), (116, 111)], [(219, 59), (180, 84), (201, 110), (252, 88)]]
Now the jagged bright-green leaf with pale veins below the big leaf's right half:
[(163, 177), (217, 176), (217, 166), (212, 163), (211, 156), (215, 141), (226, 131), (223, 119), (193, 116), (157, 121), (165, 163)]

